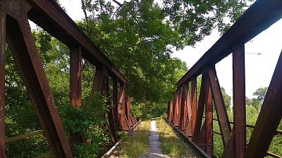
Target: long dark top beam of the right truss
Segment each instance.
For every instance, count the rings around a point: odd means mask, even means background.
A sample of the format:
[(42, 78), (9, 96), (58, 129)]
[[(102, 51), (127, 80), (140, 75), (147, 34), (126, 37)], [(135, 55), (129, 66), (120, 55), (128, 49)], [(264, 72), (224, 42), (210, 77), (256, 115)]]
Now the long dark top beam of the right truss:
[(270, 27), (282, 18), (282, 1), (257, 0), (245, 13), (232, 25), (209, 50), (202, 55), (195, 65), (178, 81), (180, 87), (188, 82), (191, 77), (202, 73), (202, 67), (209, 62), (219, 62), (232, 53), (232, 44), (244, 43), (257, 36), (260, 32)]

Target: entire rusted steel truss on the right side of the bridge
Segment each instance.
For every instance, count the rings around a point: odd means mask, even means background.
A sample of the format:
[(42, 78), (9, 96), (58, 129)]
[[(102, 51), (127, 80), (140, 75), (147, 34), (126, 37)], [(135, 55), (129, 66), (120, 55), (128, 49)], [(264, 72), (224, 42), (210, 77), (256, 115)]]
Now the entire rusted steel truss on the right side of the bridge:
[[(245, 43), (282, 18), (281, 0), (257, 0), (235, 24), (202, 55), (178, 81), (173, 100), (168, 101), (167, 120), (185, 137), (213, 154), (213, 120), (218, 121), (223, 152), (221, 157), (281, 157), (268, 152), (282, 117), (282, 52), (278, 59), (262, 109), (246, 144)], [(215, 65), (233, 55), (233, 120), (229, 121)], [(197, 77), (202, 83), (197, 90)], [(197, 98), (197, 91), (200, 96)], [(213, 119), (213, 107), (217, 119)], [(204, 118), (204, 119), (203, 119)], [(203, 121), (204, 120), (204, 121)], [(231, 123), (233, 128), (231, 128)], [(281, 132), (280, 132), (281, 133)]]

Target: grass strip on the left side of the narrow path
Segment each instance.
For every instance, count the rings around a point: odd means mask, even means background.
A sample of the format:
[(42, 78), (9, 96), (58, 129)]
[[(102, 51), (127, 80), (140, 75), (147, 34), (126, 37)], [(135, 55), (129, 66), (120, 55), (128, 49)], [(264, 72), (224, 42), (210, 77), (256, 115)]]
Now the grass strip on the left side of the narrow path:
[(146, 154), (149, 149), (149, 126), (150, 121), (142, 121), (139, 129), (132, 136), (123, 136), (121, 155), (122, 157), (137, 158), (140, 154)]

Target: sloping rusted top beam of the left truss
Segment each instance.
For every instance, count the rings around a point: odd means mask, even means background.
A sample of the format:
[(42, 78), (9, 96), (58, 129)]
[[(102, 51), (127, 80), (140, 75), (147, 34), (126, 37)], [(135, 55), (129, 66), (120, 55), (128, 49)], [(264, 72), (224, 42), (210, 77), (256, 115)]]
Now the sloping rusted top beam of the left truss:
[(55, 1), (37, 1), (27, 0), (32, 5), (27, 17), (35, 22), (39, 27), (59, 39), (72, 48), (74, 46), (82, 46), (82, 57), (93, 65), (104, 65), (111, 76), (118, 77), (118, 81), (125, 83), (127, 80), (123, 78), (110, 62), (106, 55), (95, 46), (91, 39), (82, 32), (80, 27), (56, 4)]

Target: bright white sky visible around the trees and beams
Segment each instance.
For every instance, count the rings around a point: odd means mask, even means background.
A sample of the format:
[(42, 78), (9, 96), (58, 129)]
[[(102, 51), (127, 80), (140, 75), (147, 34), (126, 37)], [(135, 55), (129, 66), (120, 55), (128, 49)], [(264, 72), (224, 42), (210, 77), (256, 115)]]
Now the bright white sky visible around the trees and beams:
[[(83, 18), (81, 1), (59, 0), (61, 6), (66, 9), (66, 13), (73, 20)], [(253, 98), (252, 93), (257, 88), (269, 86), (272, 74), (276, 67), (278, 56), (282, 49), (282, 20), (266, 29), (245, 44), (245, 81), (246, 96)], [(188, 68), (192, 67), (201, 56), (212, 47), (220, 38), (219, 32), (212, 32), (209, 37), (205, 37), (198, 42), (194, 48), (185, 47), (183, 50), (174, 51), (172, 57), (179, 58), (186, 62)], [(226, 93), (232, 96), (232, 55), (216, 64), (216, 72), (219, 77), (219, 84), (226, 89)]]

